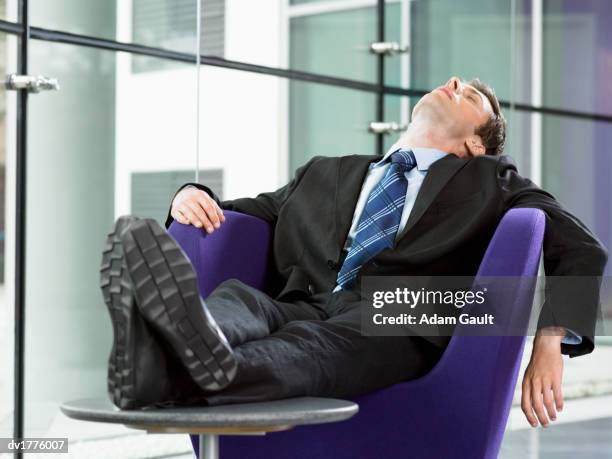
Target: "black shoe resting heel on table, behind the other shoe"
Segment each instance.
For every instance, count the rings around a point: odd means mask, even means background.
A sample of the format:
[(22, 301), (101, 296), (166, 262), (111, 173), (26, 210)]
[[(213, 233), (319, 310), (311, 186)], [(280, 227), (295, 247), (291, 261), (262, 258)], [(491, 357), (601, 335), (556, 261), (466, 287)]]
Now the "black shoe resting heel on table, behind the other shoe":
[(114, 332), (108, 394), (121, 409), (181, 404), (201, 390), (156, 339), (134, 302), (121, 236), (135, 221), (129, 216), (117, 220), (102, 254), (100, 287)]

